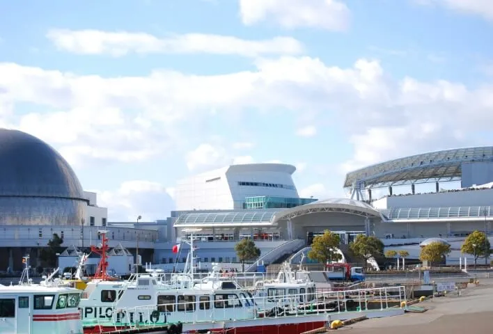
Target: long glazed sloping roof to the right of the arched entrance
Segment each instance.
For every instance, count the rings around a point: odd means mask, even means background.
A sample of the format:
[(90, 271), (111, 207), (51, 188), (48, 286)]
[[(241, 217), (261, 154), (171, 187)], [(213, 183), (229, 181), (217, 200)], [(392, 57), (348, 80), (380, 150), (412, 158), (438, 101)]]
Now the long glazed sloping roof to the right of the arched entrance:
[(389, 221), (491, 217), (493, 207), (402, 207), (379, 210)]

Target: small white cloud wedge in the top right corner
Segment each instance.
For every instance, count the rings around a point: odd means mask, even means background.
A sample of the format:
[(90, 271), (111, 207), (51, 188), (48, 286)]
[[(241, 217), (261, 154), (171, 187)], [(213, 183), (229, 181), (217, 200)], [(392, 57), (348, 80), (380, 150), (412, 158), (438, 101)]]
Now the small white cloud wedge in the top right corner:
[(414, 0), (420, 5), (437, 5), (459, 13), (479, 15), (493, 20), (493, 1), (491, 0)]

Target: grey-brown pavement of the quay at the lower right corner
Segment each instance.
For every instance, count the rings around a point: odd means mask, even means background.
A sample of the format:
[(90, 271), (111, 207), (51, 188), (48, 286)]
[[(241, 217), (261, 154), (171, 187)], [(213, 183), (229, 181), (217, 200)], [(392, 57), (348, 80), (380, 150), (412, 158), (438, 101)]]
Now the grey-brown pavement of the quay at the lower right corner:
[(493, 333), (493, 279), (462, 290), (462, 296), (448, 295), (414, 304), (428, 308), (424, 313), (368, 319), (341, 328), (348, 334), (476, 334)]

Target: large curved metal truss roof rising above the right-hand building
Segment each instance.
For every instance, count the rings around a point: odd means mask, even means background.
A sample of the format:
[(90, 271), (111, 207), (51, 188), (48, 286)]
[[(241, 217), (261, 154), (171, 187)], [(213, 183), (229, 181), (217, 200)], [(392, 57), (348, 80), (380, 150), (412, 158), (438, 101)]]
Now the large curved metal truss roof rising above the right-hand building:
[(366, 189), (402, 184), (456, 181), (463, 162), (493, 161), (493, 146), (429, 152), (382, 162), (347, 173), (344, 187)]

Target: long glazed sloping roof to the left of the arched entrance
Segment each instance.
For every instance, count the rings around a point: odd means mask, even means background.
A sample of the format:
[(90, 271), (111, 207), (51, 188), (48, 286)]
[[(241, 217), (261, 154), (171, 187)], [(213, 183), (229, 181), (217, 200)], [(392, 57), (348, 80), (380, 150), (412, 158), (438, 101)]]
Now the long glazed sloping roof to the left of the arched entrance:
[(274, 211), (211, 212), (207, 214), (182, 214), (175, 221), (175, 227), (187, 226), (248, 226), (272, 225)]

